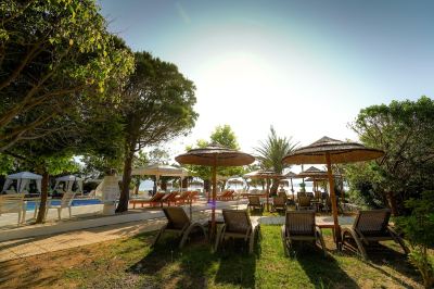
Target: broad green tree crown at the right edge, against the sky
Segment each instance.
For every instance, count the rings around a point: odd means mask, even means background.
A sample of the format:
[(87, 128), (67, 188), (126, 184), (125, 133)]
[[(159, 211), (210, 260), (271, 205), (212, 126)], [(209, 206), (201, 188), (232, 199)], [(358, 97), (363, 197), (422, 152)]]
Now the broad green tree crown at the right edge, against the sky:
[[(360, 111), (352, 124), (368, 147), (385, 151), (376, 163), (353, 169), (352, 180), (371, 187), (375, 200), (393, 192), (398, 209), (424, 190), (434, 189), (434, 102), (427, 97), (417, 101), (392, 101)], [(356, 169), (363, 172), (357, 174)], [(369, 172), (370, 171), (370, 172)]]

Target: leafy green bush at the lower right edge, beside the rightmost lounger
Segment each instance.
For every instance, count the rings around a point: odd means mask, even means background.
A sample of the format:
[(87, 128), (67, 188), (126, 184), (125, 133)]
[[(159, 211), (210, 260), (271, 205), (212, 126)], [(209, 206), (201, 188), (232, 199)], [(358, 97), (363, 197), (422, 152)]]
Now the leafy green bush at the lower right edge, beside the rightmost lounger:
[(425, 288), (434, 286), (434, 256), (429, 249), (434, 249), (434, 191), (424, 191), (421, 199), (406, 201), (411, 215), (398, 218), (398, 226), (410, 241), (410, 262), (421, 273)]

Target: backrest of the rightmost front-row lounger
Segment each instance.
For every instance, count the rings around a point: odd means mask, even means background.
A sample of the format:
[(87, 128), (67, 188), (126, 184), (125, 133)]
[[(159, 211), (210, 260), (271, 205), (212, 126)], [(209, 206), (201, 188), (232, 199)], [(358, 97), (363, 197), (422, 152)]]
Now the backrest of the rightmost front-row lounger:
[(387, 209), (359, 211), (353, 227), (367, 236), (379, 235), (385, 231), (390, 218), (391, 211)]

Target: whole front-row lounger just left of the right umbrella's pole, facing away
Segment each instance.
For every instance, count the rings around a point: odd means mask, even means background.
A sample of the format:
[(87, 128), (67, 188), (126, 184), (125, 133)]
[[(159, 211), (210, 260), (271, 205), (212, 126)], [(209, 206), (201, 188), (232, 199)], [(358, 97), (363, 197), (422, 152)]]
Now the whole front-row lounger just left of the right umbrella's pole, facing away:
[(294, 241), (308, 241), (318, 243), (327, 255), (324, 240), (321, 230), (315, 224), (314, 211), (288, 211), (285, 224), (281, 229), (281, 237), (285, 255), (290, 255), (290, 249)]

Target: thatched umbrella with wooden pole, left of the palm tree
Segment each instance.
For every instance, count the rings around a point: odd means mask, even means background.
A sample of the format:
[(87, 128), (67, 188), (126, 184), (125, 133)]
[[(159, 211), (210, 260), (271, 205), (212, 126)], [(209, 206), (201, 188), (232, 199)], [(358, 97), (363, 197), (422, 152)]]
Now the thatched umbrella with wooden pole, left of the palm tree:
[(217, 166), (240, 166), (247, 165), (255, 161), (255, 158), (238, 150), (228, 149), (219, 144), (209, 144), (205, 148), (192, 149), (187, 153), (175, 158), (180, 164), (206, 165), (212, 167), (213, 174), (213, 204), (212, 204), (212, 231), (216, 225), (216, 188)]

